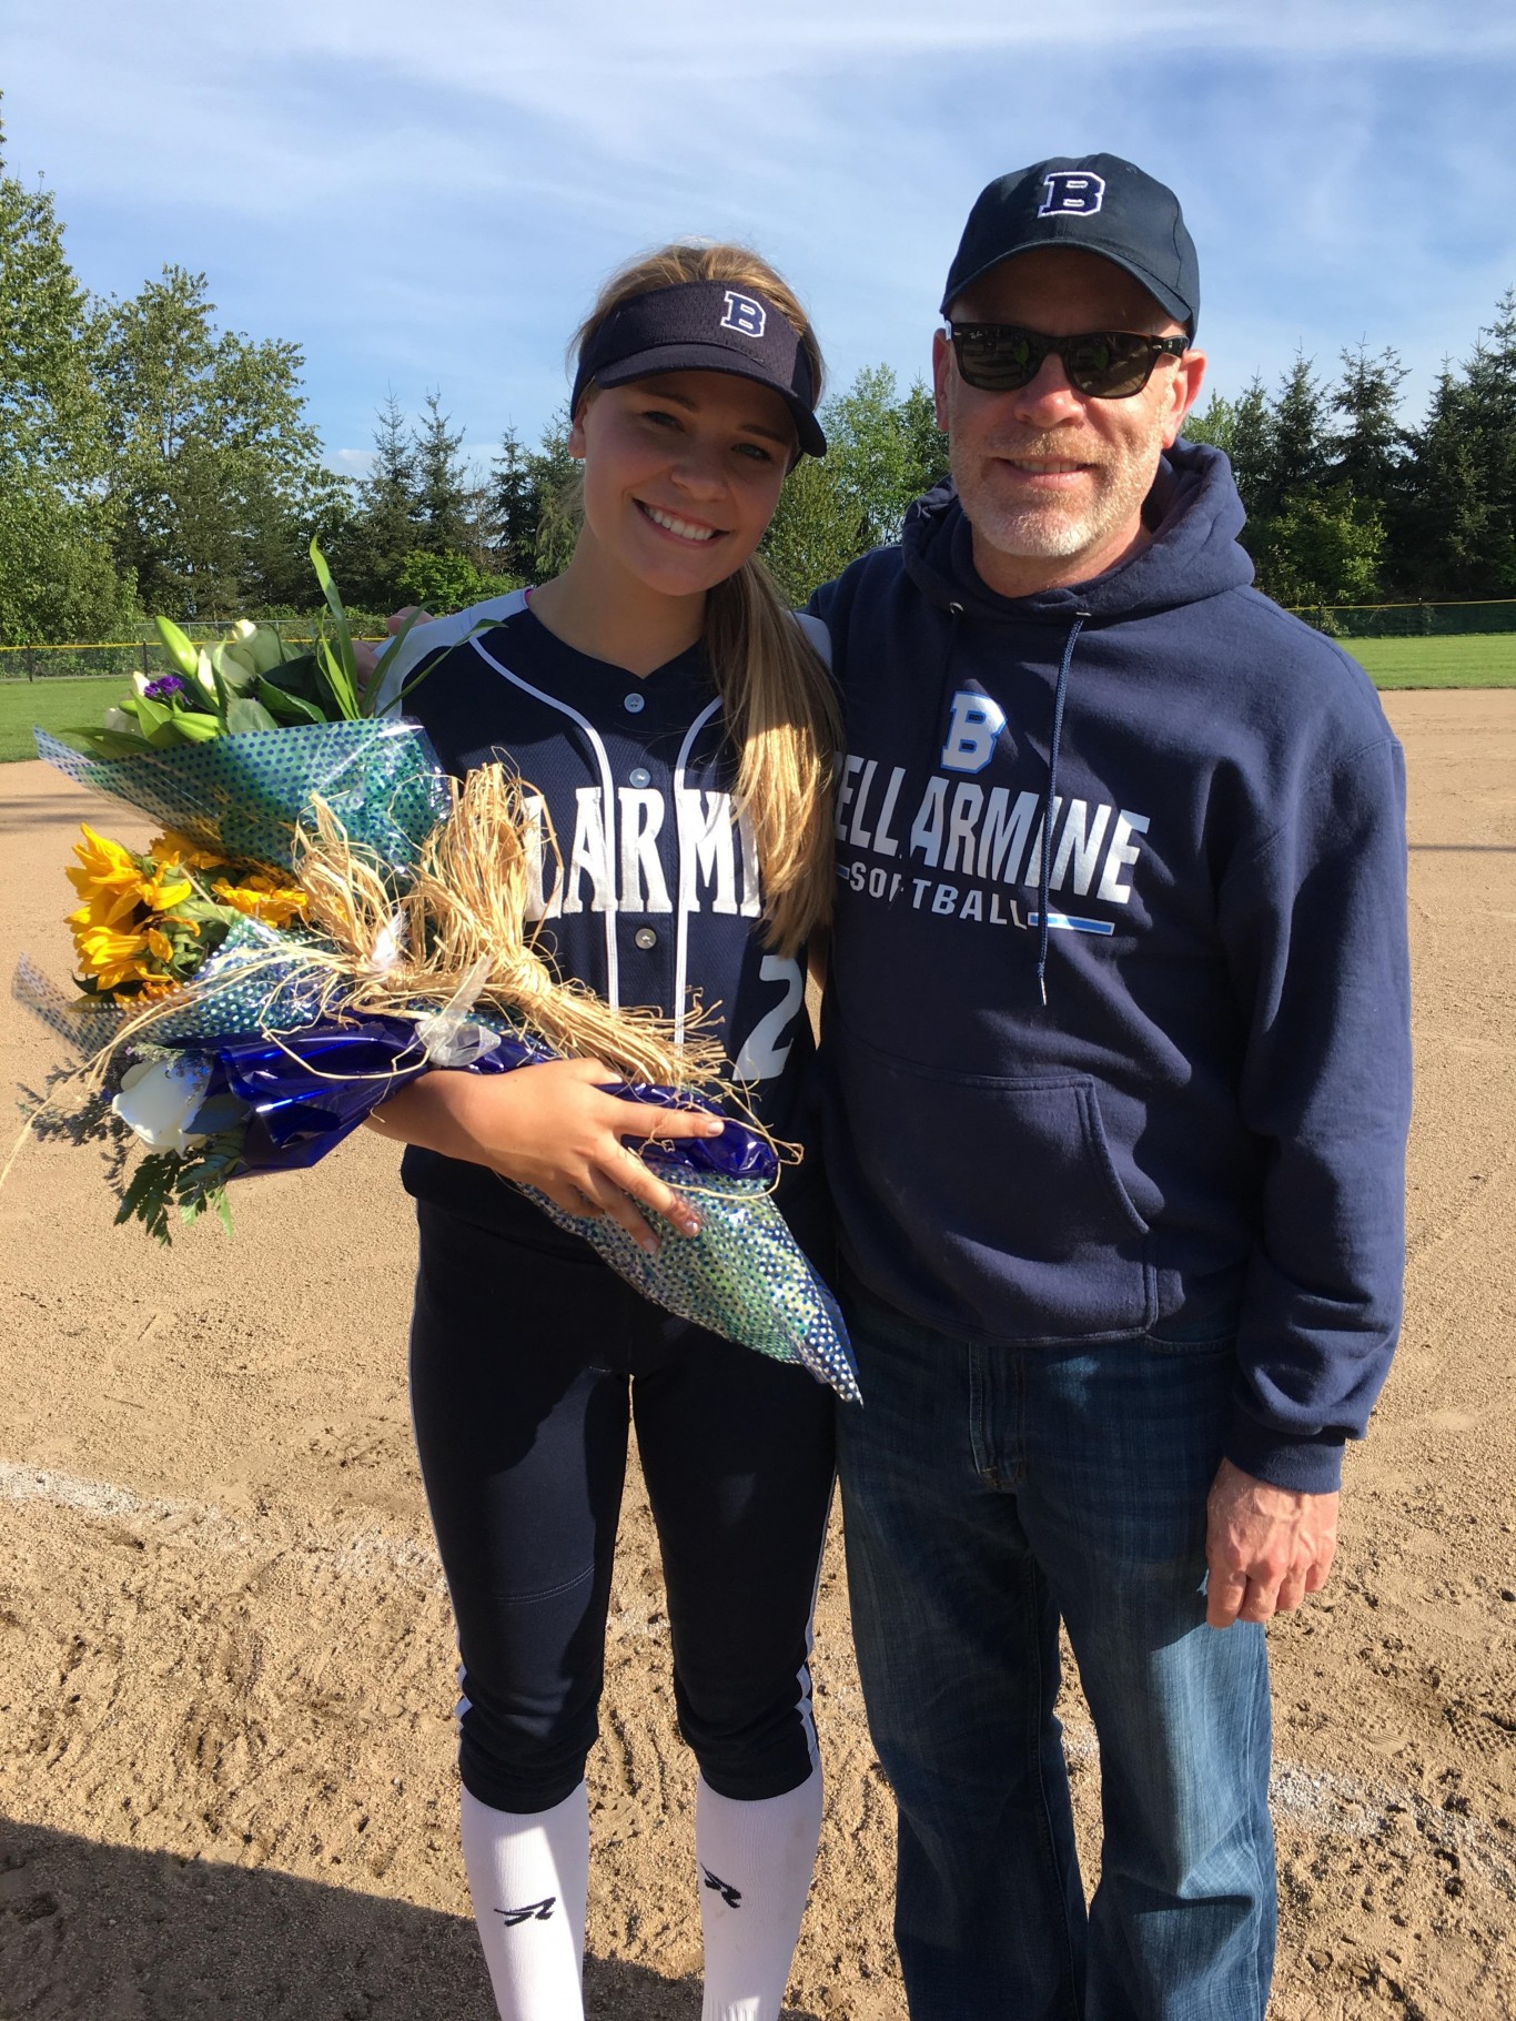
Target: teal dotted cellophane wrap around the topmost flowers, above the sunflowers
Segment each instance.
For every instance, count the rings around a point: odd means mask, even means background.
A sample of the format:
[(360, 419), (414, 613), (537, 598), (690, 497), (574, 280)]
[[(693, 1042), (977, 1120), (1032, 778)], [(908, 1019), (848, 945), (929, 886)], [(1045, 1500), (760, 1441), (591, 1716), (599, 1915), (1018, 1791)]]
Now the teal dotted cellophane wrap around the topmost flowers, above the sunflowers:
[(293, 867), (311, 794), (398, 877), (451, 806), (431, 738), (394, 717), (253, 730), (129, 758), (93, 758), (44, 730), (34, 736), (38, 756), (81, 786), (141, 808), (202, 849), (277, 869)]

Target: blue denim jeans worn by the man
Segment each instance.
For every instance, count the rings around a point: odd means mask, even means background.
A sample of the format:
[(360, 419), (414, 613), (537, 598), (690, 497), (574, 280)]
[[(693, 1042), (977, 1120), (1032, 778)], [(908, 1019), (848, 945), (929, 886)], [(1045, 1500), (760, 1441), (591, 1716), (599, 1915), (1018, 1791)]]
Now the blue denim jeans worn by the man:
[[(847, 1574), (912, 2021), (1261, 2021), (1267, 1653), (1203, 1593), (1231, 1338), (988, 1348), (865, 1297), (849, 1322)], [(1100, 1738), (1087, 1918), (1059, 1617)]]

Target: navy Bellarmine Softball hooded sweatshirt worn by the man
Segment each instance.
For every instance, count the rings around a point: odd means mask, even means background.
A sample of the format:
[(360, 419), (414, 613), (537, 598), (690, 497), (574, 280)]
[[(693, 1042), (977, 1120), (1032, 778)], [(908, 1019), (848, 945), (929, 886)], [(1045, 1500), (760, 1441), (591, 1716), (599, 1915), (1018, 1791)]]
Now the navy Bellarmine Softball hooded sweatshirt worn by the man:
[(813, 602), (847, 707), (827, 1166), (853, 1273), (948, 1334), (1235, 1322), (1227, 1455), (1324, 1491), (1401, 1314), (1401, 748), (1251, 588), (1223, 455), (1176, 445), (1146, 523), (1003, 598), (944, 485)]

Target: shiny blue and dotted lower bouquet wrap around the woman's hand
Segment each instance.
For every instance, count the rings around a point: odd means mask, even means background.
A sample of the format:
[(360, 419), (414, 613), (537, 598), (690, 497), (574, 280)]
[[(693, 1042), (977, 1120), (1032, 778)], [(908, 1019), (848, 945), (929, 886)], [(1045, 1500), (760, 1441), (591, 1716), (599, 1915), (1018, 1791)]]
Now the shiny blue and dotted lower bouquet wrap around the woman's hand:
[[(279, 1037), (226, 1039), (206, 1051), (214, 1059), (208, 1097), (232, 1093), (253, 1112), (243, 1152), (247, 1172), (315, 1164), (427, 1067), (416, 1029), (404, 1019), (325, 1021)], [(499, 1049), (471, 1071), (503, 1073), (548, 1057), (524, 1033), (505, 1031)], [(699, 1099), (623, 1083), (608, 1093), (661, 1108)], [(716, 1112), (707, 1101), (701, 1108)], [(663, 1237), (657, 1255), (647, 1255), (614, 1221), (566, 1215), (536, 1188), (519, 1190), (657, 1306), (772, 1360), (798, 1362), (847, 1401), (859, 1401), (837, 1304), (774, 1207), (772, 1146), (728, 1118), (720, 1138), (659, 1142), (649, 1162), (659, 1178), (689, 1194), (701, 1221), (699, 1235), (687, 1237), (651, 1217)]]

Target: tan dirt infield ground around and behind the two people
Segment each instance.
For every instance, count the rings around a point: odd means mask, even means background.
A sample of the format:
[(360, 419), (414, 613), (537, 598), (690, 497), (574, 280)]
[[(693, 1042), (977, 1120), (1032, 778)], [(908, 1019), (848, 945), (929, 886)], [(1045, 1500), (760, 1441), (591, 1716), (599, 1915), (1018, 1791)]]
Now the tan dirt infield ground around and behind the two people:
[[(1271, 1633), (1277, 2021), (1516, 2015), (1516, 693), (1389, 711), (1411, 764), (1409, 1310), (1348, 1455), (1338, 1570)], [(6, 960), (59, 978), (83, 814), (42, 766), (0, 770)], [(0, 1081), (49, 1053), (2, 1004)], [(354, 1142), (236, 1209), (234, 1243), (200, 1229), (166, 1259), (109, 1227), (89, 1154), (30, 1146), (0, 1192), (0, 2017), (485, 2021), (394, 1156)], [(608, 1657), (588, 2005), (691, 2021), (691, 1764), (639, 1485)], [(839, 1548), (817, 1679), (827, 1829), (792, 2013), (899, 2021)], [(1067, 1734), (1094, 1873), (1075, 1696)]]

